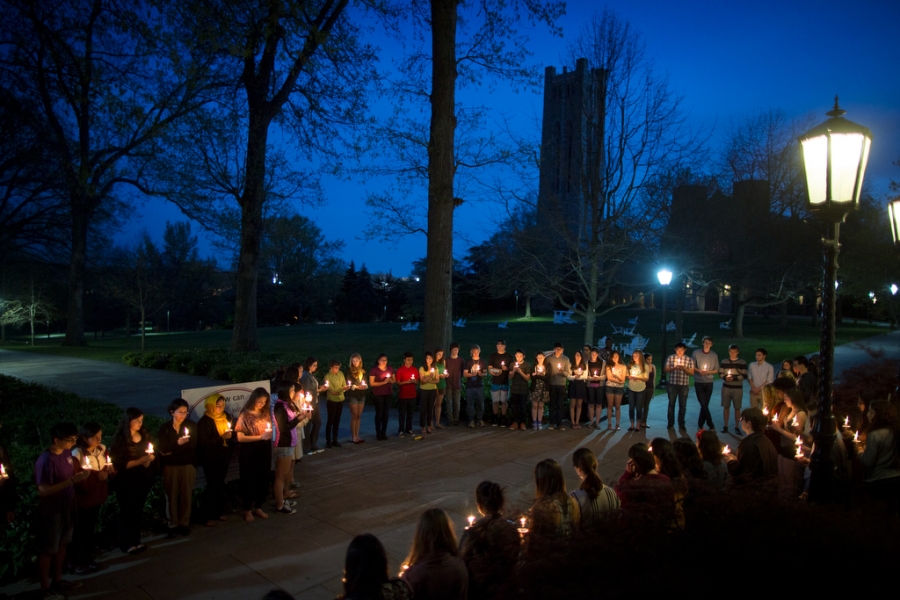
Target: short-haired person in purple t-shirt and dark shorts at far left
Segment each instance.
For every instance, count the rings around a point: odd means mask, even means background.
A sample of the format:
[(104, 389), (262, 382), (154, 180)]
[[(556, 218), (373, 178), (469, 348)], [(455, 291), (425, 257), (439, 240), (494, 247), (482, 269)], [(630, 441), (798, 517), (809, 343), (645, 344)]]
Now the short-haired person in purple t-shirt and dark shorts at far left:
[(78, 428), (74, 424), (57, 423), (50, 428), (50, 446), (34, 463), (38, 489), (37, 540), (40, 544), (37, 563), (45, 598), (62, 598), (60, 592), (82, 585), (80, 581), (62, 577), (66, 546), (72, 541), (77, 513), (75, 485), (90, 476), (89, 470), (75, 472), (72, 448), (77, 441)]

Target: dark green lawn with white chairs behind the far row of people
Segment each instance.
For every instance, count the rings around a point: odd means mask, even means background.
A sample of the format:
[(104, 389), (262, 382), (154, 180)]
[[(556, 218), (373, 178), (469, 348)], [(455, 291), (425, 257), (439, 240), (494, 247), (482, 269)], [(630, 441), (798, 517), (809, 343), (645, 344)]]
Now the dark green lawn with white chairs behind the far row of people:
[[(647, 350), (656, 355), (654, 363), (660, 365), (662, 336), (660, 311), (623, 310), (598, 319), (594, 329), (594, 343), (612, 332), (610, 322), (623, 326), (627, 320), (639, 318), (636, 331), (650, 339)], [(667, 314), (667, 320), (671, 313)], [(727, 356), (727, 346), (734, 342), (741, 346), (741, 357), (753, 360), (753, 350), (762, 346), (769, 351), (769, 362), (777, 364), (784, 358), (816, 352), (819, 348), (819, 327), (813, 327), (808, 318), (791, 319), (787, 328), (782, 328), (775, 318), (748, 316), (744, 319), (744, 339), (732, 339), (732, 332), (719, 329), (719, 323), (727, 316), (717, 313), (685, 313), (684, 335), (697, 333), (695, 343), (699, 346), (704, 335), (715, 339), (713, 349), (720, 357)], [(509, 329), (498, 329), (497, 324), (509, 320)], [(320, 361), (338, 358), (346, 363), (353, 352), (362, 354), (367, 365), (384, 352), (392, 363), (399, 363), (403, 352), (410, 350), (417, 356), (422, 350), (422, 332), (400, 331), (400, 323), (366, 323), (336, 325), (301, 325), (299, 327), (267, 327), (259, 330), (262, 350), (265, 352), (290, 352), (291, 354), (312, 355)], [(871, 323), (853, 324), (849, 320), (837, 328), (837, 344), (846, 344), (874, 335), (886, 333), (887, 328)], [(566, 354), (572, 355), (581, 347), (584, 339), (584, 325), (554, 325), (552, 318), (537, 317), (528, 321), (518, 320), (512, 314), (486, 315), (470, 318), (463, 329), (454, 328), (453, 339), (459, 342), (461, 354), (468, 356), (467, 348), (479, 344), (482, 351), (490, 354), (498, 338), (507, 341), (507, 349), (512, 352), (522, 348), (529, 356), (540, 350), (550, 350), (553, 343), (560, 341), (566, 347)], [(615, 342), (627, 342), (630, 338), (614, 336)], [(41, 352), (59, 356), (73, 356), (110, 362), (121, 362), (126, 352), (140, 350), (140, 337), (124, 337), (107, 334), (96, 340), (89, 334), (84, 348), (61, 346), (61, 337), (38, 338), (34, 347), (26, 345), (27, 338), (13, 338), (4, 347), (10, 350)], [(675, 343), (673, 332), (669, 332), (667, 343)], [(147, 349), (160, 351), (189, 350), (193, 348), (227, 348), (231, 342), (231, 331), (210, 330), (147, 336)], [(416, 359), (419, 360), (418, 358)], [(417, 363), (418, 364), (418, 363)]]

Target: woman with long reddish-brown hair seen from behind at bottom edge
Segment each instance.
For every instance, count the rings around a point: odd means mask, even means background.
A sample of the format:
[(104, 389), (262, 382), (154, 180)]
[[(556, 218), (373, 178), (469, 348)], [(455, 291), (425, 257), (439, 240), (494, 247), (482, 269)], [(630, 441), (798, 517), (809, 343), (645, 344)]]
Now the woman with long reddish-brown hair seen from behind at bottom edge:
[(466, 600), (469, 574), (459, 556), (453, 523), (442, 508), (430, 508), (419, 517), (402, 578), (413, 598)]

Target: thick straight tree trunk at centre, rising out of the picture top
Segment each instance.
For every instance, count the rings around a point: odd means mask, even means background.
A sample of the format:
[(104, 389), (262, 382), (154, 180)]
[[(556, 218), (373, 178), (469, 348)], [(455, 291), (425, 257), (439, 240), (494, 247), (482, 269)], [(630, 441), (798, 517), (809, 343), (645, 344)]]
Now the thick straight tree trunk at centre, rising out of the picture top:
[(426, 351), (446, 348), (453, 322), (453, 178), (457, 0), (431, 0), (431, 128), (428, 142)]

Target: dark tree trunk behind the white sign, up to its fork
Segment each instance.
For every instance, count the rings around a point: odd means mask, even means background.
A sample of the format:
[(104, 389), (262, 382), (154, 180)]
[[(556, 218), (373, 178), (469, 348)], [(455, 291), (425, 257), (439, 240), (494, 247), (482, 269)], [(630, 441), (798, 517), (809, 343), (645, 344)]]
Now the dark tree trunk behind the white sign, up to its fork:
[(234, 330), (231, 351), (259, 350), (256, 331), (256, 293), (259, 280), (259, 247), (262, 241), (262, 208), (266, 197), (266, 143), (270, 119), (250, 108), (247, 134), (247, 176), (241, 196), (241, 252), (235, 280)]

